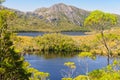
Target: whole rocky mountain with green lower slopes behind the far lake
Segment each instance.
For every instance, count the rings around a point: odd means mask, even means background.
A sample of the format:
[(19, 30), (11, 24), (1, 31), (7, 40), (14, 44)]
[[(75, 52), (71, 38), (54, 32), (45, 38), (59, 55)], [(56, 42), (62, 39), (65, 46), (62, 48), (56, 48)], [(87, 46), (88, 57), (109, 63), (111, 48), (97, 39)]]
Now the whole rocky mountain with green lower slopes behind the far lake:
[[(18, 16), (11, 22), (10, 29), (14, 31), (84, 31), (87, 30), (82, 27), (84, 19), (90, 13), (63, 3), (26, 13), (15, 9), (10, 10)], [(120, 16), (117, 16), (120, 23)]]

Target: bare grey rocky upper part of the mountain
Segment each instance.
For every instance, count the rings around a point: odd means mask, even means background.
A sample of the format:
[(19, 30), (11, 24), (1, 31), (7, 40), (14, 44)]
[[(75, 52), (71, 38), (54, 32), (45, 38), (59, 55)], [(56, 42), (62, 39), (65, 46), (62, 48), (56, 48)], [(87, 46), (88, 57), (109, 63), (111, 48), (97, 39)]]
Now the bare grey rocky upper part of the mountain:
[(83, 25), (84, 19), (89, 14), (88, 11), (63, 3), (55, 4), (50, 8), (36, 9), (34, 13), (46, 19), (46, 22), (59, 24), (60, 21), (65, 21), (79, 26)]

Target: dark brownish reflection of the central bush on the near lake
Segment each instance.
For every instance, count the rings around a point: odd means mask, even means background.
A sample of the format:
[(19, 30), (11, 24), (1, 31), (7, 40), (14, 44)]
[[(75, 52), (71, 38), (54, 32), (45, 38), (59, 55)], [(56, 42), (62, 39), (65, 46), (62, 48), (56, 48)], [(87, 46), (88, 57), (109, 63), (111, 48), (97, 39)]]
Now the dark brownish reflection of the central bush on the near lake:
[(79, 54), (79, 52), (39, 52), (36, 53), (38, 56), (42, 56), (45, 59), (52, 58), (72, 58)]

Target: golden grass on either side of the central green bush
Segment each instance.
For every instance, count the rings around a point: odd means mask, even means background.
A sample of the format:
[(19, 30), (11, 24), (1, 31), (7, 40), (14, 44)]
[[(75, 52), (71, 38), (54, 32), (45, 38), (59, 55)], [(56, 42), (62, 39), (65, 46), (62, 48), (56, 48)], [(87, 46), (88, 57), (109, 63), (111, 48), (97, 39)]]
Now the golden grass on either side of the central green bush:
[[(116, 35), (120, 35), (120, 28), (112, 28), (111, 30), (106, 30), (105, 33), (112, 33)], [(107, 55), (105, 47), (98, 43), (96, 44), (96, 36), (98, 33), (89, 33), (85, 36), (68, 36), (72, 38), (77, 44), (79, 44), (79, 48), (83, 51), (90, 51), (96, 54)], [(24, 51), (24, 50), (39, 50), (39, 46), (36, 41), (36, 37), (28, 37), (28, 36), (17, 36), (14, 40), (15, 48)], [(110, 45), (114, 45), (114, 41), (109, 42)], [(116, 50), (114, 50), (114, 55), (118, 55), (120, 53), (120, 46), (118, 45)]]

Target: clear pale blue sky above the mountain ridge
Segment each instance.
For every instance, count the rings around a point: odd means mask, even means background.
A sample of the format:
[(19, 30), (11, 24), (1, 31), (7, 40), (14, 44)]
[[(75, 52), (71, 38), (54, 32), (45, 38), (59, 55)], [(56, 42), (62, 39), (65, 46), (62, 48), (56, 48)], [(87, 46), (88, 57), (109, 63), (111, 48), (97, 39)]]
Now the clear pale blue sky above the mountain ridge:
[(50, 7), (57, 3), (72, 5), (80, 9), (120, 14), (120, 0), (6, 0), (2, 5), (20, 11), (34, 11), (41, 7)]

